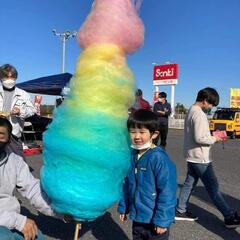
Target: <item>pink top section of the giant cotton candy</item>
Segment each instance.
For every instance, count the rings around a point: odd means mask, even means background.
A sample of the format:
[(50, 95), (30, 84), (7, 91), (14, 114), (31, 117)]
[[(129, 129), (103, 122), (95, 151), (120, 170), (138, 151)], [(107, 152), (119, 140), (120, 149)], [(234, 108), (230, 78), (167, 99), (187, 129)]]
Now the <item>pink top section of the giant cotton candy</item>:
[(95, 0), (91, 13), (80, 28), (81, 48), (113, 43), (126, 54), (143, 45), (144, 26), (130, 0)]

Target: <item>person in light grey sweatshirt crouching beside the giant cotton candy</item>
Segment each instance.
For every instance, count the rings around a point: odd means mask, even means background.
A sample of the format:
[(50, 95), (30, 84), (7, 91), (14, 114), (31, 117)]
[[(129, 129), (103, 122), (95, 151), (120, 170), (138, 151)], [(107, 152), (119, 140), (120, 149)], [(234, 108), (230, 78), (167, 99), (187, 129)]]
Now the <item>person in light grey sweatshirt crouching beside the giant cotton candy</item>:
[(36, 223), (20, 214), (20, 204), (14, 196), (16, 188), (34, 207), (46, 214), (55, 215), (40, 188), (40, 182), (29, 171), (21, 156), (6, 150), (12, 125), (0, 117), (0, 239), (42, 240)]

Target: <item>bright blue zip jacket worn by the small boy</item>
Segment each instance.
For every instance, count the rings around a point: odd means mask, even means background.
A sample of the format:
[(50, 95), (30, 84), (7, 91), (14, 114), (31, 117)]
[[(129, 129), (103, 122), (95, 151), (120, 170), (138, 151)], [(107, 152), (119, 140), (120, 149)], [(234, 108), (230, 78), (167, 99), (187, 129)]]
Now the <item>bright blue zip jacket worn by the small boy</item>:
[(136, 222), (169, 227), (175, 217), (176, 190), (176, 167), (164, 150), (150, 149), (139, 160), (133, 150), (118, 212), (130, 213)]

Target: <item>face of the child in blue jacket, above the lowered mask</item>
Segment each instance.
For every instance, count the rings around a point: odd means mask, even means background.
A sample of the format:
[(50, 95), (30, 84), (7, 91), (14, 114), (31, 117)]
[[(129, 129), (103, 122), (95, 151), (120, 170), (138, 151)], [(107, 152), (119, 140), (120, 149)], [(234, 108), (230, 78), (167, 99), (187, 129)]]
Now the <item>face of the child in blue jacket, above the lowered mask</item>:
[(147, 128), (130, 128), (130, 139), (132, 144), (141, 147), (158, 136), (158, 132), (150, 133)]

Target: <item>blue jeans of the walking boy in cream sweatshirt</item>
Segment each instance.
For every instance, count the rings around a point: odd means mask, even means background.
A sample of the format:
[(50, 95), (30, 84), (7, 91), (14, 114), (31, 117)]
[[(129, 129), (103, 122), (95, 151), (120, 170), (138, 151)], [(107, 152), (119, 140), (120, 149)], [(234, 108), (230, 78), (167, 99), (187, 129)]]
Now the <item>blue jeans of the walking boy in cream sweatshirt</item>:
[(214, 205), (222, 213), (224, 218), (231, 217), (233, 215), (233, 210), (226, 203), (219, 190), (212, 163), (202, 164), (188, 162), (187, 177), (179, 195), (177, 211), (180, 213), (186, 212), (189, 198), (199, 178), (203, 182)]

